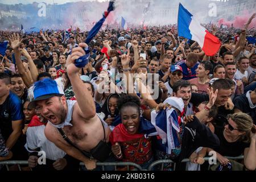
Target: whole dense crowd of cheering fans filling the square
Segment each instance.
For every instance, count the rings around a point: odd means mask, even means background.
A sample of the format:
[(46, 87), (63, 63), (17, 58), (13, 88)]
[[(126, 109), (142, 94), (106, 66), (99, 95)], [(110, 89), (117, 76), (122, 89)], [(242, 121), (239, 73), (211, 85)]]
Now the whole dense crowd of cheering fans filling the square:
[(0, 161), (27, 160), (22, 170), (36, 171), (100, 170), (97, 162), (147, 169), (170, 159), (204, 171), (214, 153), (211, 170), (255, 170), (255, 16), (241, 30), (205, 24), (222, 43), (213, 56), (177, 36), (176, 25), (110, 28), (89, 44), (79, 28), (68, 39), (65, 31), (1, 31), (9, 45), (0, 57)]

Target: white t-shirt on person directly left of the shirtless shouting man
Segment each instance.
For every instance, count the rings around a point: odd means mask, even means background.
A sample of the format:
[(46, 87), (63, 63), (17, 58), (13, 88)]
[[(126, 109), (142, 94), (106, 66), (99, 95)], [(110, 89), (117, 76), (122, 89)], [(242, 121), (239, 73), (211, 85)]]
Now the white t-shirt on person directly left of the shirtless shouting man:
[(35, 152), (36, 148), (40, 148), (41, 151), (46, 152), (47, 159), (57, 160), (63, 158), (66, 153), (46, 138), (46, 135), (44, 135), (45, 128), (46, 126), (44, 125), (28, 127), (25, 148), (28, 152)]

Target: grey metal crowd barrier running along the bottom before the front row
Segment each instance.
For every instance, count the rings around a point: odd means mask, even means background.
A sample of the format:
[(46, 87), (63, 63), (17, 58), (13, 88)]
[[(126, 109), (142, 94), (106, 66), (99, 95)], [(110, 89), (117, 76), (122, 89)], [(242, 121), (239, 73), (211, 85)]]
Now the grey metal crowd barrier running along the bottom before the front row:
[[(233, 160), (239, 160), (239, 159), (243, 159), (243, 155), (237, 156), (237, 157), (225, 156), (225, 158), (233, 159)], [(210, 159), (209, 157), (204, 158), (205, 162), (207, 162), (209, 159)], [(186, 162), (189, 162), (189, 161), (190, 161), (189, 159), (183, 159), (181, 161), (181, 163), (186, 163)], [(152, 171), (152, 169), (154, 169), (154, 167), (156, 167), (158, 165), (161, 165), (160, 171), (163, 171), (164, 164), (166, 164), (166, 163), (171, 164), (171, 163), (174, 163), (174, 162), (172, 160), (168, 160), (168, 159), (156, 160), (156, 161), (154, 161), (150, 164), (148, 169), (143, 169), (141, 166), (139, 166), (139, 164), (135, 164), (135, 163), (132, 163), (132, 162), (106, 162), (106, 163), (97, 162), (96, 165), (100, 166), (102, 171), (105, 171), (106, 166), (114, 166), (115, 171), (117, 171), (118, 166), (126, 166), (127, 171), (130, 171), (130, 167), (134, 167), (138, 171)], [(19, 171), (22, 171), (22, 168), (20, 167), (20, 165), (28, 165), (28, 162), (27, 162), (27, 160), (5, 160), (5, 161), (0, 162), (0, 167), (1, 167), (1, 165), (5, 166), (7, 171), (9, 171), (9, 165), (18, 165)], [(80, 166), (84, 166), (84, 163), (81, 162)], [(174, 163), (174, 170), (175, 169), (176, 169), (176, 163)]]

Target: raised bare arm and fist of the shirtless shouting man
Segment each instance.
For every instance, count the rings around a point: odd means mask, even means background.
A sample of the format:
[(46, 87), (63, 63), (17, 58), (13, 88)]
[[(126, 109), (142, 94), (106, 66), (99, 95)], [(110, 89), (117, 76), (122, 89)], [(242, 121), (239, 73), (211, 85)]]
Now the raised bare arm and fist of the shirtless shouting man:
[(75, 65), (75, 60), (80, 56), (85, 55), (84, 49), (82, 47), (88, 47), (85, 43), (80, 43), (79, 47), (72, 49), (72, 55), (68, 56), (67, 59), (67, 72), (71, 85), (73, 87), (73, 92), (75, 93), (77, 103), (79, 105), (79, 115), (82, 118), (90, 119), (96, 115), (96, 106), (92, 95), (89, 93), (88, 89), (84, 86), (82, 80), (79, 76), (79, 70)]

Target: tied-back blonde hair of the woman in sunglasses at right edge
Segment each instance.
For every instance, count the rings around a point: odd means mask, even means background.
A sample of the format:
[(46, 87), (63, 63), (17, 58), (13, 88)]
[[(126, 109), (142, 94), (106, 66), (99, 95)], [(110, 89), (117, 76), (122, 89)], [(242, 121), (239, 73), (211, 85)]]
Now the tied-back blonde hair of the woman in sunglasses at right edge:
[(245, 143), (250, 143), (250, 132), (253, 129), (253, 119), (250, 115), (245, 113), (235, 113), (230, 117), (236, 124), (237, 129), (240, 131), (245, 131), (245, 135), (241, 136), (241, 141)]

